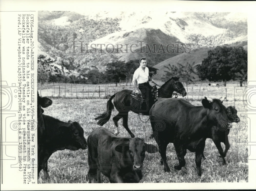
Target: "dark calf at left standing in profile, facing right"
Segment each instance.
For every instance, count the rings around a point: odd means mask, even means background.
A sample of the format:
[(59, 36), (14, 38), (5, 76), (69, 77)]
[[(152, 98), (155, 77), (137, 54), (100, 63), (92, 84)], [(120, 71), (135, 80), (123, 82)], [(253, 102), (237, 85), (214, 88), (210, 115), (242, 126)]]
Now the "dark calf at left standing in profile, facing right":
[(87, 142), (83, 136), (83, 128), (78, 122), (69, 123), (60, 121), (42, 114), (44, 121), (44, 139), (39, 137), (38, 142), (42, 145), (38, 148), (38, 175), (43, 169), (44, 177), (48, 178), (48, 159), (57, 150), (78, 150), (86, 149)]

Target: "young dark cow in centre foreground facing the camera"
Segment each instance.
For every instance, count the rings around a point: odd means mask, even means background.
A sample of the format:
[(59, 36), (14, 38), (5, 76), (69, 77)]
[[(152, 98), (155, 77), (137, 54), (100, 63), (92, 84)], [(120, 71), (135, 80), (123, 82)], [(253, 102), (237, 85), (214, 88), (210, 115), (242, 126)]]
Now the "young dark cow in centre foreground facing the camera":
[(158, 151), (141, 138), (117, 137), (105, 128), (92, 131), (87, 141), (89, 183), (101, 183), (101, 173), (110, 183), (138, 183), (142, 179), (145, 151)]

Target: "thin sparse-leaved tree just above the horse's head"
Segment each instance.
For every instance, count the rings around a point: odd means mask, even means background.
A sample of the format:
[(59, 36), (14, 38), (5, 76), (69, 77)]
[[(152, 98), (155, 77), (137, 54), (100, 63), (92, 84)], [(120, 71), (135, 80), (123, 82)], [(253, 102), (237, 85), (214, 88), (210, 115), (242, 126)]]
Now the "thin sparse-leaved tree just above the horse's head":
[(193, 80), (195, 79), (193, 74), (196, 74), (193, 68), (193, 65), (195, 64), (195, 62), (193, 62), (192, 65), (190, 65), (187, 62), (186, 66), (181, 65), (180, 63), (177, 64), (177, 66), (175, 65), (170, 65), (168, 64), (168, 66), (164, 66), (165, 68), (167, 68), (165, 72), (164, 77), (162, 78), (163, 81), (167, 81), (169, 80), (171, 77), (179, 77), (180, 79), (182, 79), (182, 81), (184, 81), (186, 83), (186, 87), (187, 87), (187, 93), (188, 93), (188, 84), (190, 84), (191, 82), (193, 82)]

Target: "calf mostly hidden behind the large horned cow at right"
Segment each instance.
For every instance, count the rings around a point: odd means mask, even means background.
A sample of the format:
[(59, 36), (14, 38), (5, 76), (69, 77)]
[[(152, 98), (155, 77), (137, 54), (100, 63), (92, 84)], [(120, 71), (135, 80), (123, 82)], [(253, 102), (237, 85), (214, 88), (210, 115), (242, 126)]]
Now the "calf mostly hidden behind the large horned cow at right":
[[(231, 122), (238, 123), (240, 121), (240, 118), (237, 116), (237, 110), (232, 106), (227, 107), (227, 116)], [(222, 164), (226, 163), (226, 160), (224, 157), (226, 157), (226, 154), (229, 149), (229, 142), (228, 142), (229, 131), (230, 131), (229, 128), (222, 129), (221, 127), (218, 128), (217, 126), (213, 126), (211, 128), (211, 131), (209, 131), (207, 134), (207, 138), (211, 138), (215, 143), (219, 151), (220, 157), (222, 158), (222, 161), (223, 161)], [(221, 142), (225, 144), (224, 152), (220, 144)], [(202, 154), (202, 157), (203, 159), (205, 159), (204, 154)]]

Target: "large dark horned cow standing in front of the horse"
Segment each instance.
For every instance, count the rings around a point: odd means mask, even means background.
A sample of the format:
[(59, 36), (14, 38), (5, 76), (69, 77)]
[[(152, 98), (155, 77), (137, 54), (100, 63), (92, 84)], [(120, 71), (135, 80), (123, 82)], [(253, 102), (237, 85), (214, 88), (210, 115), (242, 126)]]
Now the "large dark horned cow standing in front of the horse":
[[(150, 110), (150, 121), (164, 170), (170, 172), (166, 162), (166, 147), (173, 143), (179, 164), (174, 166), (180, 170), (185, 166), (184, 156), (187, 149), (196, 152), (197, 174), (201, 176), (201, 158), (205, 147), (207, 131), (218, 126), (222, 121), (229, 122), (226, 107), (221, 100), (202, 99), (203, 106), (194, 106), (184, 99), (168, 98), (158, 100)], [(160, 126), (159, 126), (160, 125)]]

